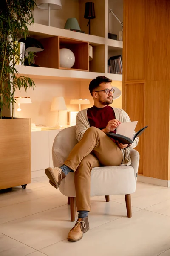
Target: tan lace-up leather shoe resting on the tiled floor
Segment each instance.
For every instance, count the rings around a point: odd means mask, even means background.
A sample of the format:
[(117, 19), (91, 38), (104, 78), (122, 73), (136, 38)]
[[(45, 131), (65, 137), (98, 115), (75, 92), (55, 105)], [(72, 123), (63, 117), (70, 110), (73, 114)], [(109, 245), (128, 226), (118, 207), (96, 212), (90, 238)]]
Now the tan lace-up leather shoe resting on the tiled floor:
[(78, 219), (74, 227), (68, 233), (68, 241), (77, 242), (82, 239), (83, 233), (89, 230), (88, 217)]

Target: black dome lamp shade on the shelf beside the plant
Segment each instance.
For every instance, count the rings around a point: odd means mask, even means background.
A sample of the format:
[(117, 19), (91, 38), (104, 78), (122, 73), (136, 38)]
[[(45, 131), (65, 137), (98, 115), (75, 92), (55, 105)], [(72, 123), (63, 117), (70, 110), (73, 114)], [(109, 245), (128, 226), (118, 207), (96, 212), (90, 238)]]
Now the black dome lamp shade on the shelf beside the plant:
[(35, 38), (21, 38), (18, 42), (25, 43), (25, 50), (27, 52), (42, 52), (44, 50), (43, 45)]

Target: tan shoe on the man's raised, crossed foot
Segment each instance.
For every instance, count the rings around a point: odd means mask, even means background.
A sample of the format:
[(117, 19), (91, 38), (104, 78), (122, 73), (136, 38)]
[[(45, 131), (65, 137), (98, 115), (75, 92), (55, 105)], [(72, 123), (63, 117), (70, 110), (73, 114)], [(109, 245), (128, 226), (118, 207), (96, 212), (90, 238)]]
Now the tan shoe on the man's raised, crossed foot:
[(61, 181), (65, 178), (64, 172), (59, 167), (48, 167), (45, 169), (45, 174), (47, 175), (48, 179), (50, 180), (50, 184), (54, 186), (54, 188), (58, 189)]

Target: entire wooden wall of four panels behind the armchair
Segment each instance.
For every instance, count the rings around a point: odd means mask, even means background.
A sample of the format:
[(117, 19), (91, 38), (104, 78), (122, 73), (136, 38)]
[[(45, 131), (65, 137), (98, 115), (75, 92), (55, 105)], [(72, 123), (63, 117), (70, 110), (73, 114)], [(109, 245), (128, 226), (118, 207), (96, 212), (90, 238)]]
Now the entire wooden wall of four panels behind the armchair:
[(137, 130), (148, 125), (136, 148), (139, 173), (166, 181), (170, 180), (169, 24), (169, 0), (124, 0), (123, 108), (139, 121)]

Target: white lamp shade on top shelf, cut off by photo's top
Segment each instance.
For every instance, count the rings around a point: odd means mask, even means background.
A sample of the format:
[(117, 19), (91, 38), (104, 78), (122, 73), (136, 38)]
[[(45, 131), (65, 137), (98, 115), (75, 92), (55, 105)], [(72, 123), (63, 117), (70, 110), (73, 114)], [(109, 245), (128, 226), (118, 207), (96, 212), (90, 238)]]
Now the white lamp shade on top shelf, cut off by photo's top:
[(48, 10), (48, 4), (50, 4), (51, 10), (62, 9), (60, 0), (37, 0), (37, 7), (40, 9)]

